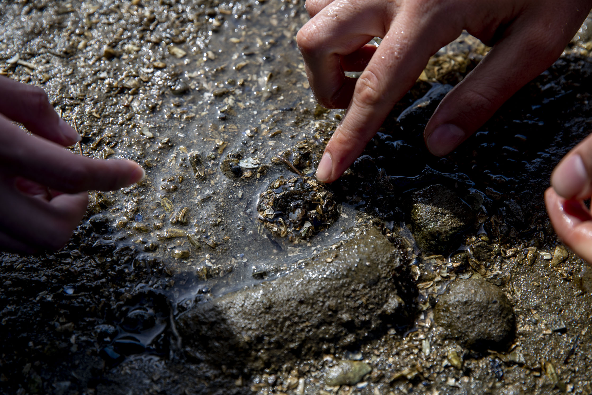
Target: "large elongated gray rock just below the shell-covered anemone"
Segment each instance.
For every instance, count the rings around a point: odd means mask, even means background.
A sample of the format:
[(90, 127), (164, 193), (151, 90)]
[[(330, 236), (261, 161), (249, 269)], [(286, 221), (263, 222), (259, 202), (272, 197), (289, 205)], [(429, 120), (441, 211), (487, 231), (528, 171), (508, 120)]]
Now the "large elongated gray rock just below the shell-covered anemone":
[(362, 341), (403, 301), (395, 269), (406, 259), (377, 230), (337, 249), (337, 257), (198, 304), (177, 327), (192, 349), (219, 363), (278, 368)]

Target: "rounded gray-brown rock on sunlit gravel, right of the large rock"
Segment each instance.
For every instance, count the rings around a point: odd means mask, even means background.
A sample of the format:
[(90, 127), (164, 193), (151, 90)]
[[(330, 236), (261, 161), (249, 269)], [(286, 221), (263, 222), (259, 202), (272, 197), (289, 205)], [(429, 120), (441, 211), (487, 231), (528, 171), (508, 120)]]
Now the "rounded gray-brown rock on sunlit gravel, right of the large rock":
[(475, 277), (449, 285), (434, 308), (434, 320), (447, 337), (477, 348), (503, 346), (514, 331), (514, 310), (506, 294)]

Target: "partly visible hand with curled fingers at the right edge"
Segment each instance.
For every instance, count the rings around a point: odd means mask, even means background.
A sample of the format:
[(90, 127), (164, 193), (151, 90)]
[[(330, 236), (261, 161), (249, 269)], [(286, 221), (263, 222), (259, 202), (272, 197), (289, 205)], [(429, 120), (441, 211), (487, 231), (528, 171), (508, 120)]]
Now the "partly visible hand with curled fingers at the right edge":
[(592, 262), (592, 214), (583, 200), (592, 195), (592, 135), (559, 162), (545, 192), (555, 232), (575, 253)]

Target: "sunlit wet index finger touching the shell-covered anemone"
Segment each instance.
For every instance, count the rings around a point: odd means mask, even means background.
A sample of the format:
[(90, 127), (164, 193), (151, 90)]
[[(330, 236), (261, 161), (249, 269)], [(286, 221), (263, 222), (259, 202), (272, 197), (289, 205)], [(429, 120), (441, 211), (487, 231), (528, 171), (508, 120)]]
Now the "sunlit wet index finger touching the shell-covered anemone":
[(450, 24), (435, 40), (432, 15), (401, 10), (358, 79), (345, 118), (327, 143), (317, 179), (332, 182), (358, 158), (392, 107), (415, 84), (440, 47), (454, 40), (460, 28)]

